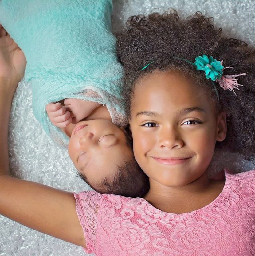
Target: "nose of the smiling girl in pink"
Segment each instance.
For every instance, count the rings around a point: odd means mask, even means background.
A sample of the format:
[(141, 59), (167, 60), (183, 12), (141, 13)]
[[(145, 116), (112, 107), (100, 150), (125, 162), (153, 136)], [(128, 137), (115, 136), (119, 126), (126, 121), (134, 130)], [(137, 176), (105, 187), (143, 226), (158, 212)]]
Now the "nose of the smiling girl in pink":
[(164, 128), (159, 131), (158, 144), (160, 148), (182, 148), (181, 134), (175, 128)]

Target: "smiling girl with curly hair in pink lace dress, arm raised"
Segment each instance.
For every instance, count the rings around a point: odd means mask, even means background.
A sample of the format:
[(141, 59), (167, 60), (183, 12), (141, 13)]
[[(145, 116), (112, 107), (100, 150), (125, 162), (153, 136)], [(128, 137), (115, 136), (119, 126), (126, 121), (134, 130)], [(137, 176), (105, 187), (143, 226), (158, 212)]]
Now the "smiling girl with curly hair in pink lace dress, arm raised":
[[(15, 80), (0, 73), (0, 213), (96, 255), (254, 255), (255, 171), (207, 177), (226, 120), (222, 147), (251, 159), (255, 145), (252, 51), (221, 33), (210, 18), (172, 11), (132, 17), (119, 37), (134, 153), (150, 180), (144, 198), (73, 197), (10, 177), (6, 116)], [(240, 91), (220, 87), (237, 83)]]

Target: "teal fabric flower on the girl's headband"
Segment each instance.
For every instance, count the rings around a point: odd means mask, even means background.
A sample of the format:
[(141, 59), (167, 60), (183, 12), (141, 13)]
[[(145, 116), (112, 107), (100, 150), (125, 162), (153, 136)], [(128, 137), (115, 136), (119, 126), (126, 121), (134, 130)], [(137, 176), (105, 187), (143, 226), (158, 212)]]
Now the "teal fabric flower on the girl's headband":
[(198, 70), (204, 70), (206, 73), (206, 78), (215, 81), (216, 79), (221, 79), (222, 77), (222, 69), (224, 68), (221, 65), (220, 61), (217, 61), (212, 56), (209, 58), (207, 55), (198, 56), (195, 59), (195, 65), (197, 66)]

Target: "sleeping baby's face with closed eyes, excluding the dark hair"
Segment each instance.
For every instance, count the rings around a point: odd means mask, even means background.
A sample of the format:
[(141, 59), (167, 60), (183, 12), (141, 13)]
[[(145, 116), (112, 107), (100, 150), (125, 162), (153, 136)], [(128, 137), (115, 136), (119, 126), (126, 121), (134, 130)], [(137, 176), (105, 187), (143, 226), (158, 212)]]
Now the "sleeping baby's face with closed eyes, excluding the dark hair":
[(73, 128), (68, 153), (76, 169), (95, 186), (104, 178), (112, 181), (133, 153), (127, 144), (124, 128), (109, 120), (81, 121)]

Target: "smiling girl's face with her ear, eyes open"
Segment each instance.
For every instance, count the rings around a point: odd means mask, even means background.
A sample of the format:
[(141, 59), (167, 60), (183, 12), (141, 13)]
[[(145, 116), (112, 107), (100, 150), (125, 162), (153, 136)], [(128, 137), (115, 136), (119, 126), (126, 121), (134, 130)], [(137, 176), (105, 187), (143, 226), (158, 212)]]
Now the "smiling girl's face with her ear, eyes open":
[(150, 183), (165, 186), (202, 176), (226, 136), (225, 113), (180, 71), (154, 71), (137, 82), (130, 125), (136, 161)]

